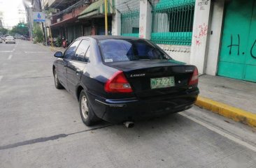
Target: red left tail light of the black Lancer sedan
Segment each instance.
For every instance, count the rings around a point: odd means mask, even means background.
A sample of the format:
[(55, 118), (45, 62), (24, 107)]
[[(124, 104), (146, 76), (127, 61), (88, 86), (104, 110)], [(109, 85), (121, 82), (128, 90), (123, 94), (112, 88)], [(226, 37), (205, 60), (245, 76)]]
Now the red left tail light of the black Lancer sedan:
[(108, 79), (105, 84), (105, 91), (108, 93), (131, 93), (132, 89), (122, 71), (115, 72), (115, 74)]

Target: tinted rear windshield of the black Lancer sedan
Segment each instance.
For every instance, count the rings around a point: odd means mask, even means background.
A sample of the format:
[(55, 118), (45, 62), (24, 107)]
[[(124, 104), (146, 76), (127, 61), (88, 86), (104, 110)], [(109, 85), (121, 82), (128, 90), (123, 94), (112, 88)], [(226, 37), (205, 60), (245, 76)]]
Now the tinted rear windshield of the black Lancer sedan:
[(171, 59), (146, 40), (99, 40), (104, 62)]

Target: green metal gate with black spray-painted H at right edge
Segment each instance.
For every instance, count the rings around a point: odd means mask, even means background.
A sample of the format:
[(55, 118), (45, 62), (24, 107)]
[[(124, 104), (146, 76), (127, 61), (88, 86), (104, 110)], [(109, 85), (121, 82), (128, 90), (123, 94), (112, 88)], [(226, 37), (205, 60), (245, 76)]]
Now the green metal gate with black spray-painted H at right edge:
[(218, 75), (256, 82), (256, 0), (226, 4)]

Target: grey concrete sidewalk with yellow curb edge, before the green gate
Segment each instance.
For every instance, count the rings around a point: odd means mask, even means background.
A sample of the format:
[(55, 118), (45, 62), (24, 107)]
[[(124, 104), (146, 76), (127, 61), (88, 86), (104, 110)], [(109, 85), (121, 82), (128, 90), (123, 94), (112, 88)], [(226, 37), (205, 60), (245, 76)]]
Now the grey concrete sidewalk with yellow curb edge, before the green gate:
[(226, 77), (199, 77), (196, 105), (256, 127), (256, 84)]

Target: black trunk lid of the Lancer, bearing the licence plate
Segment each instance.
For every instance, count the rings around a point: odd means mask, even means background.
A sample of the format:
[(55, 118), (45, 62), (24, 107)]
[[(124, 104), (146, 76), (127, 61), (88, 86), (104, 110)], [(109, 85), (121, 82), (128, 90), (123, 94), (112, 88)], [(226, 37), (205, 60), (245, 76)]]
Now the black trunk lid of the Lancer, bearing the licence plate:
[[(138, 98), (186, 91), (195, 68), (173, 60), (123, 61), (107, 65), (124, 72)], [(154, 88), (156, 83), (163, 88)]]

